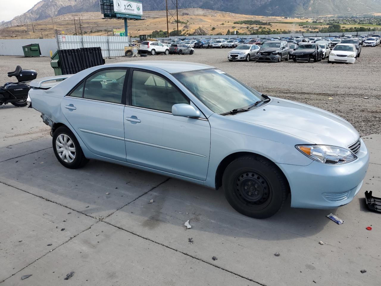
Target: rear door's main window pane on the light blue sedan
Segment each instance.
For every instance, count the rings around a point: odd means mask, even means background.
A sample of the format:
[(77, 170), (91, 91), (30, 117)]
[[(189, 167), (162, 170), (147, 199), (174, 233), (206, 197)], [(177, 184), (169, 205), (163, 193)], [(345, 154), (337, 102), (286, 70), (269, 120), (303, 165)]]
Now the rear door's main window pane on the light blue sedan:
[(125, 69), (109, 69), (93, 74), (85, 82), (83, 98), (122, 103)]

